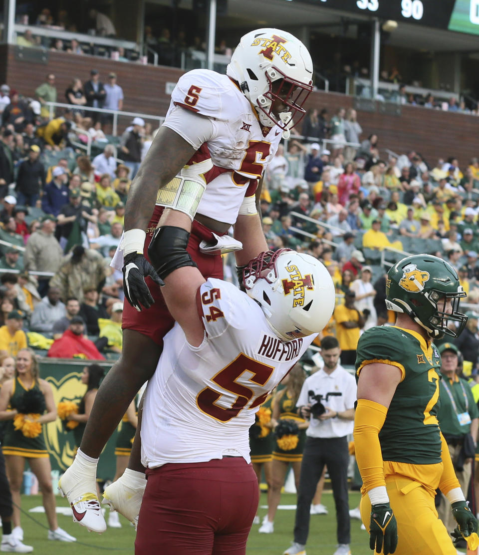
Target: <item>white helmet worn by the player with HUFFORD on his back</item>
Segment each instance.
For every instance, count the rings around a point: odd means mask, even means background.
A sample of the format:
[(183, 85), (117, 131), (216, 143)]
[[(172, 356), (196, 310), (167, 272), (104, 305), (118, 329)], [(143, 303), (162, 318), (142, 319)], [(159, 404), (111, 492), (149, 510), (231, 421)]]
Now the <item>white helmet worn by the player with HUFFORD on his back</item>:
[(334, 310), (331, 276), (309, 254), (290, 249), (261, 253), (243, 270), (243, 284), (284, 340), (320, 332)]

